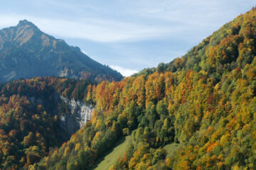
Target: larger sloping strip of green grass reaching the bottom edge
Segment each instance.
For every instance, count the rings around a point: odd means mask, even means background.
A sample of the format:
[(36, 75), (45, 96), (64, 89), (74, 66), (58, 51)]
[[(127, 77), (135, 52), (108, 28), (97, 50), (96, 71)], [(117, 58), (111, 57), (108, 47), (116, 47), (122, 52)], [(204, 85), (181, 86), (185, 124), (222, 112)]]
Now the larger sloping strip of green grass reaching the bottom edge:
[(117, 163), (119, 157), (124, 156), (124, 152), (126, 152), (129, 149), (129, 144), (132, 143), (132, 136), (129, 135), (119, 142), (117, 142), (116, 147), (113, 147), (110, 152), (108, 152), (105, 157), (99, 160), (97, 162), (98, 164), (95, 166), (92, 166), (91, 170), (109, 170), (110, 166)]

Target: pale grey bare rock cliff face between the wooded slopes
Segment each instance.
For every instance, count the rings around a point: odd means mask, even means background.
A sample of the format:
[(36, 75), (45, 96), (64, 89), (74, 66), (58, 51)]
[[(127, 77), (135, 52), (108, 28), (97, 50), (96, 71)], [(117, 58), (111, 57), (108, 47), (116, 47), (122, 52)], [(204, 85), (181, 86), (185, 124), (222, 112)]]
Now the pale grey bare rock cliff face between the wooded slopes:
[(90, 120), (92, 117), (92, 112), (95, 109), (92, 105), (82, 103), (82, 101), (75, 101), (75, 99), (68, 99), (63, 96), (60, 96), (60, 99), (68, 105), (71, 113), (71, 115), (61, 115), (60, 120), (62, 123), (66, 124), (71, 131), (73, 131), (73, 128), (77, 128), (77, 130), (82, 128), (82, 125), (85, 125), (87, 120)]

